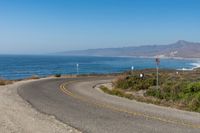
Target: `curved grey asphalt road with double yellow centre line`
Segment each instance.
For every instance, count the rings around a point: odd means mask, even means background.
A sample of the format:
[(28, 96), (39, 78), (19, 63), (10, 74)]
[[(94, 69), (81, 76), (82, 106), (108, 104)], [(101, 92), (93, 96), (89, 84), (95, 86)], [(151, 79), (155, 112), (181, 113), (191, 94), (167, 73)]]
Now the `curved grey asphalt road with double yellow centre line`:
[[(110, 78), (48, 79), (18, 93), (38, 111), (88, 133), (200, 133), (200, 114), (104, 94)], [(26, 119), (26, 118), (24, 118)]]

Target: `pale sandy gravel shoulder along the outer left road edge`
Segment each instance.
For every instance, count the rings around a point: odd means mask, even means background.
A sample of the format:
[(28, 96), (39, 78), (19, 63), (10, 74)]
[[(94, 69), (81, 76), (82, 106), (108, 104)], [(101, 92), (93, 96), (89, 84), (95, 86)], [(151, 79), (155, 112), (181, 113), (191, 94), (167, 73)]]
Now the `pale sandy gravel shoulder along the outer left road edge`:
[(17, 88), (32, 81), (0, 86), (0, 131), (2, 133), (79, 133), (76, 129), (56, 120), (54, 116), (36, 111), (18, 95)]

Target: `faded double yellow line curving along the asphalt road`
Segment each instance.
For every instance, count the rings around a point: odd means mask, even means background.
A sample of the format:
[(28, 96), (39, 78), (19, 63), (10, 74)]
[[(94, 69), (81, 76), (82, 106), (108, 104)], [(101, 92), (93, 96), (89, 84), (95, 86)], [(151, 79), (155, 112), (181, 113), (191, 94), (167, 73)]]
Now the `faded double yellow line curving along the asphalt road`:
[(86, 97), (82, 97), (82, 96), (76, 95), (76, 94), (72, 93), (71, 91), (69, 91), (66, 88), (66, 86), (68, 84), (70, 84), (70, 83), (72, 83), (72, 82), (61, 84), (60, 85), (60, 90), (64, 94), (66, 94), (68, 96), (71, 96), (71, 97), (73, 97), (75, 99), (78, 99), (80, 101), (86, 102), (88, 104), (96, 105), (98, 107), (106, 108), (106, 109), (109, 109), (109, 110), (115, 111), (115, 112), (127, 113), (127, 114), (132, 115), (132, 116), (142, 116), (142, 117), (144, 117), (146, 119), (153, 119), (153, 120), (158, 120), (158, 121), (166, 122), (166, 123), (170, 123), (170, 124), (177, 124), (177, 125), (181, 125), (181, 126), (187, 126), (187, 127), (190, 127), (190, 128), (199, 128), (200, 129), (200, 125), (195, 125), (195, 124), (192, 124), (192, 123), (186, 123), (185, 121), (161, 118), (161, 117), (158, 117), (158, 116), (152, 116), (152, 115), (148, 115), (148, 114), (141, 113), (141, 112), (135, 112), (135, 111), (129, 111), (129, 110), (126, 110), (126, 109), (117, 108), (115, 106), (112, 106), (112, 105), (109, 105), (109, 104), (105, 104), (105, 103), (91, 101), (90, 99), (88, 99)]

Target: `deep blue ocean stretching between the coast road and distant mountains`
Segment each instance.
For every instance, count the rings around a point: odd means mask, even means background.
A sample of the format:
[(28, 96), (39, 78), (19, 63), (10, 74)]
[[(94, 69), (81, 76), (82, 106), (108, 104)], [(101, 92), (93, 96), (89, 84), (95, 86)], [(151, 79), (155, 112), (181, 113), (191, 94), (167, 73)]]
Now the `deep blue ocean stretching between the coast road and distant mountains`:
[[(33, 75), (109, 74), (145, 68), (155, 68), (155, 59), (137, 57), (92, 57), (52, 55), (0, 55), (0, 77), (23, 79)], [(183, 59), (161, 59), (160, 68), (192, 70), (200, 62)]]

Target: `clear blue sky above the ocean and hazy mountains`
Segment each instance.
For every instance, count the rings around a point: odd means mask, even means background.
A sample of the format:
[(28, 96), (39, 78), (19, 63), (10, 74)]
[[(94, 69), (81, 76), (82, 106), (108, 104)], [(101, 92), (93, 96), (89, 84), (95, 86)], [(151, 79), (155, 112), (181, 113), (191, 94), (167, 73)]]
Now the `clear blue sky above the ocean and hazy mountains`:
[(200, 42), (200, 0), (1, 0), (0, 54)]

